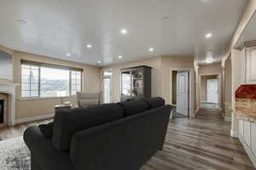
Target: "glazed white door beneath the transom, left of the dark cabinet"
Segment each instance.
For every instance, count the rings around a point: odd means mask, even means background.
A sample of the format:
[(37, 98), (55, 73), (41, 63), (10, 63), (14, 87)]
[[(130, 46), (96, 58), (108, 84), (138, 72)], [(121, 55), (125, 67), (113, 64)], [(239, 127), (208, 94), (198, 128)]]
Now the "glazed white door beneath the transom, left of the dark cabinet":
[(104, 77), (102, 80), (102, 103), (109, 104), (113, 102), (112, 97), (112, 77)]

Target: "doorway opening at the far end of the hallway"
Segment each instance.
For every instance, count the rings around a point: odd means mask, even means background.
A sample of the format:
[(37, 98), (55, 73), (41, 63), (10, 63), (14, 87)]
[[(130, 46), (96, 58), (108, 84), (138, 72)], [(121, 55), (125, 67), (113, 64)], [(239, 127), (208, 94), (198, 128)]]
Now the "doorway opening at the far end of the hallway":
[(201, 109), (218, 111), (218, 75), (201, 76)]

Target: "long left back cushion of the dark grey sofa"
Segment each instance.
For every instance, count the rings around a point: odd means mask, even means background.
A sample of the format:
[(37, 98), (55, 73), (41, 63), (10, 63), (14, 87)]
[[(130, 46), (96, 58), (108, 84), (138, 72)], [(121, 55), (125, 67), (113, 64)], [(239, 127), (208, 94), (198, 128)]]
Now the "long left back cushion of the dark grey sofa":
[(115, 121), (123, 116), (122, 107), (116, 104), (94, 105), (58, 112), (54, 120), (53, 145), (56, 150), (69, 150), (74, 133)]

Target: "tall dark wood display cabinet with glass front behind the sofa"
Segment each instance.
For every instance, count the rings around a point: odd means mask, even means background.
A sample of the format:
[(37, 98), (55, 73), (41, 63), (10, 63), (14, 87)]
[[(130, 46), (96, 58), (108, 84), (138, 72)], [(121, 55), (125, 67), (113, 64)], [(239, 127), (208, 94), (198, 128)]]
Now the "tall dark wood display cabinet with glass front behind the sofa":
[(121, 101), (151, 97), (151, 67), (121, 69)]

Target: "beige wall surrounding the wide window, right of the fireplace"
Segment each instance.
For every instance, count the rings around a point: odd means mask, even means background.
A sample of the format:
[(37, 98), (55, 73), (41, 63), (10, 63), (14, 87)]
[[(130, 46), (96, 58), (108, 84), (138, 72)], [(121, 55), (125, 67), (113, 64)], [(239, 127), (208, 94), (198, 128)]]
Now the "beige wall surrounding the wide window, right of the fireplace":
[[(54, 114), (55, 105), (61, 104), (60, 98), (46, 99), (20, 99), (20, 59), (44, 62), (54, 65), (64, 65), (70, 67), (82, 68), (83, 72), (83, 91), (99, 92), (101, 84), (101, 68), (90, 65), (83, 65), (62, 59), (53, 59), (36, 54), (28, 54), (20, 51), (14, 51), (14, 83), (15, 88), (15, 119), (20, 120), (33, 116), (45, 116)], [(63, 98), (63, 101), (74, 103), (74, 97)]]

